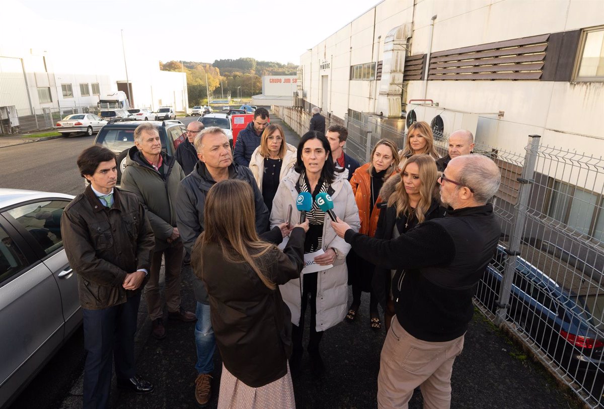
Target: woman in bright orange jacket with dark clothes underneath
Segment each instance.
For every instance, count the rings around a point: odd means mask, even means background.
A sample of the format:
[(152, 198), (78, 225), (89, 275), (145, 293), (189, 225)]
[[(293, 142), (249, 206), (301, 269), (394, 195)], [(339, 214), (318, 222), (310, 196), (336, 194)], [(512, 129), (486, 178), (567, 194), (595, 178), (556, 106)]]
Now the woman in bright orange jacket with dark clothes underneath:
[[(356, 206), (359, 208), (361, 218), (361, 230), (359, 233), (373, 237), (377, 228), (379, 218), (379, 191), (392, 174), (396, 173), (399, 162), (398, 149), (394, 142), (381, 139), (371, 151), (371, 162), (365, 163), (353, 173), (350, 179), (352, 191), (355, 194)], [(361, 306), (361, 292), (371, 293), (369, 303), (369, 314), (371, 317), (371, 329), (379, 331), (382, 322), (377, 311), (377, 297), (371, 291), (371, 277), (375, 266), (350, 252), (346, 258), (349, 272), (349, 284), (352, 284), (352, 305), (346, 319), (355, 320), (356, 312)]]

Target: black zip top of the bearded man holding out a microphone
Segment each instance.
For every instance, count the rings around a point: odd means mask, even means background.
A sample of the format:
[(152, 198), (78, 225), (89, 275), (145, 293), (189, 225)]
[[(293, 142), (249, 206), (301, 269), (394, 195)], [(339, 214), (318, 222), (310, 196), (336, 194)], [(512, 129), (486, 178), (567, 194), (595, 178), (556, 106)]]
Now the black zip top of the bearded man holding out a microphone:
[(467, 330), (478, 281), (493, 258), (501, 228), (492, 204), (447, 211), (396, 239), (369, 238), (350, 229), (345, 240), (382, 268), (405, 270), (394, 309), (413, 337), (444, 342)]

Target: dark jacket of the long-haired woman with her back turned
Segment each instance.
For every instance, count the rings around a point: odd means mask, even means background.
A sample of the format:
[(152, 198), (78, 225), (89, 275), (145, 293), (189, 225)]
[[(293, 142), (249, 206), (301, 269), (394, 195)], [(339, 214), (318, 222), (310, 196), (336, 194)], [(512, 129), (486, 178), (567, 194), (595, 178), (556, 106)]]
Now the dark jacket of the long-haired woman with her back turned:
[[(269, 250), (262, 261), (263, 273), (277, 285), (300, 277), (304, 230), (292, 230), (283, 252)], [(201, 239), (191, 265), (210, 294), (212, 328), (226, 369), (254, 388), (284, 376), (292, 352), (292, 323), (279, 287), (266, 287), (247, 263), (226, 261), (219, 244), (202, 248)]]

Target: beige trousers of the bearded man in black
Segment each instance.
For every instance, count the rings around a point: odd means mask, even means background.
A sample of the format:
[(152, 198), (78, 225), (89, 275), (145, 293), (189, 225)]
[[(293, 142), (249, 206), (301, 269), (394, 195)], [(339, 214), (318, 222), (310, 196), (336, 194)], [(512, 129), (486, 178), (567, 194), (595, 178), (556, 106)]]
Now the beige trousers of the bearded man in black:
[(386, 335), (377, 375), (377, 407), (406, 409), (413, 390), (420, 387), (423, 407), (451, 407), (451, 372), (463, 349), (463, 338), (446, 342), (418, 340), (394, 316)]

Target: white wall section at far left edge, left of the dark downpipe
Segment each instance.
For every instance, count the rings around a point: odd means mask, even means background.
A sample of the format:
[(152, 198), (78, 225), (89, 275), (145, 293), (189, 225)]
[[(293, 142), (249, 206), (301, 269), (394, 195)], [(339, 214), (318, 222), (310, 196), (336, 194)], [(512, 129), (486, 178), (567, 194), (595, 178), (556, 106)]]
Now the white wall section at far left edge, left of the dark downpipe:
[(14, 105), (17, 115), (30, 115), (21, 59), (0, 57), (0, 106)]

